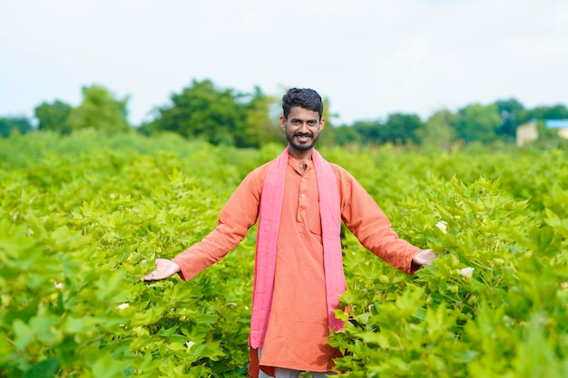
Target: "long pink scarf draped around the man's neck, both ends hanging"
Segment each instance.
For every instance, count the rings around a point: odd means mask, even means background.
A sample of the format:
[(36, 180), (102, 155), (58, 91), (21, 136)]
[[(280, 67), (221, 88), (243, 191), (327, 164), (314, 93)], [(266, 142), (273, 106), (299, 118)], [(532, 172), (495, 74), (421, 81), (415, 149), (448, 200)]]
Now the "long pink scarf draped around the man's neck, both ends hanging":
[[(259, 228), (257, 233), (252, 317), (250, 320), (249, 344), (261, 348), (269, 326), (270, 306), (274, 288), (274, 269), (279, 235), (284, 181), (288, 167), (288, 148), (274, 161), (264, 179), (260, 199)], [(319, 214), (321, 217), (328, 325), (338, 331), (343, 321), (336, 318), (333, 310), (338, 308), (339, 296), (346, 289), (341, 256), (341, 209), (338, 179), (328, 161), (313, 150), (312, 160), (318, 177)]]

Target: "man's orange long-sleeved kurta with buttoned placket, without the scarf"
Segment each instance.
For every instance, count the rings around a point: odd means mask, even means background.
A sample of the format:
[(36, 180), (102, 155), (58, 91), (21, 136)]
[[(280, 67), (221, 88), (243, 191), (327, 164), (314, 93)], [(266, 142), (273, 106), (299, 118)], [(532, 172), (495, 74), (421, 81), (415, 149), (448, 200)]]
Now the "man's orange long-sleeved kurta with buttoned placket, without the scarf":
[[(230, 197), (219, 223), (200, 243), (173, 260), (190, 279), (236, 247), (259, 214), (260, 192), (272, 162), (253, 170)], [(332, 164), (338, 177), (345, 225), (378, 257), (412, 274), (420, 251), (397, 237), (385, 214), (358, 182)], [(318, 205), (318, 183), (311, 161), (302, 174), (289, 157), (280, 219), (274, 295), (260, 365), (326, 372), (339, 356), (328, 342), (328, 314)]]

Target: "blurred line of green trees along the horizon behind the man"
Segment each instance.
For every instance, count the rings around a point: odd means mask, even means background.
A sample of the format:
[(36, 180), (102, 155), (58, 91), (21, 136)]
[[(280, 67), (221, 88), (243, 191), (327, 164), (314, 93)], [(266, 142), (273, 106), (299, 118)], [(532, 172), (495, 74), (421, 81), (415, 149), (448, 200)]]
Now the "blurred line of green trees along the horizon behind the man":
[[(170, 131), (214, 145), (260, 148), (282, 141), (279, 130), (280, 98), (255, 87), (252, 92), (220, 88), (211, 80), (193, 80), (171, 102), (152, 111), (141, 125), (127, 121), (128, 97), (116, 98), (101, 85), (82, 88), (83, 101), (73, 107), (61, 101), (43, 102), (34, 109), (37, 128), (25, 117), (0, 117), (0, 135), (11, 132), (55, 131), (63, 135), (93, 128), (106, 132), (138, 131), (145, 135)], [(328, 104), (328, 99), (324, 99)], [(386, 119), (335, 124), (326, 106), (326, 132), (321, 143), (345, 146), (394, 143), (434, 145), (449, 150), (456, 142), (483, 144), (514, 142), (517, 126), (526, 121), (568, 119), (563, 104), (527, 109), (514, 98), (490, 104), (472, 103), (457, 111), (441, 109), (423, 121), (413, 113), (393, 112)], [(337, 117), (336, 117), (337, 118)], [(544, 133), (541, 122), (541, 131)]]

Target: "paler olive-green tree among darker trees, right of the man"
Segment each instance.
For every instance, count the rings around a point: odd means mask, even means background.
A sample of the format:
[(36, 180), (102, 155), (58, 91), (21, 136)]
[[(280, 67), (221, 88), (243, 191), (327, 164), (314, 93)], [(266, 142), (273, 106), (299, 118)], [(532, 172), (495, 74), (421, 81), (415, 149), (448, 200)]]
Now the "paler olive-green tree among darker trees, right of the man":
[(428, 118), (424, 129), (416, 132), (422, 144), (436, 146), (449, 152), (452, 143), (455, 141), (455, 128), (458, 122), (459, 117), (455, 112), (442, 109)]

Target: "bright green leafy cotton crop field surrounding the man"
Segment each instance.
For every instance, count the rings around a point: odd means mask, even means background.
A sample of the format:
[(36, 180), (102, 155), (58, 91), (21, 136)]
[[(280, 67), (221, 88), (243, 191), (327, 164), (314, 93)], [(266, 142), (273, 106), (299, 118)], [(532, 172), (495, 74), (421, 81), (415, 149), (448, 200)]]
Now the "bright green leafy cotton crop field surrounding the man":
[[(245, 376), (255, 228), (187, 283), (144, 284), (275, 157), (173, 136), (0, 141), (0, 377)], [(563, 150), (323, 149), (401, 237), (406, 276), (344, 241), (346, 377), (568, 376)]]

